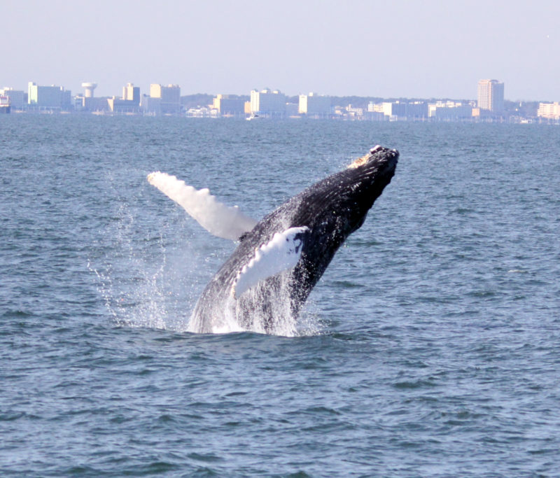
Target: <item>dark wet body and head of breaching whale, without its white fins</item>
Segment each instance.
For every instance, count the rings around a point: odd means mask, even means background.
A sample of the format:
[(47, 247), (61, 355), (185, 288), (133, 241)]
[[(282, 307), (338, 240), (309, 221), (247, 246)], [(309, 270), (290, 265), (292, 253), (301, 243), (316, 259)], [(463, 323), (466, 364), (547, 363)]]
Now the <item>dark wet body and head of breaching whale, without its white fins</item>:
[[(267, 332), (274, 329), (277, 302), (289, 301), (290, 314), (297, 316), (339, 246), (363, 224), (367, 211), (391, 182), (397, 161), (398, 151), (377, 146), (358, 160), (360, 164), (311, 185), (265, 216), (244, 235), (202, 293), (191, 318), (197, 324), (197, 332), (210, 332), (216, 314), (228, 307), (235, 307), (229, 313), (236, 316), (241, 328), (251, 329), (251, 323), (258, 318)], [(300, 226), (307, 226), (309, 234), (297, 265), (289, 272), (265, 279), (234, 304), (232, 285), (241, 268), (254, 257), (255, 249), (276, 232)]]

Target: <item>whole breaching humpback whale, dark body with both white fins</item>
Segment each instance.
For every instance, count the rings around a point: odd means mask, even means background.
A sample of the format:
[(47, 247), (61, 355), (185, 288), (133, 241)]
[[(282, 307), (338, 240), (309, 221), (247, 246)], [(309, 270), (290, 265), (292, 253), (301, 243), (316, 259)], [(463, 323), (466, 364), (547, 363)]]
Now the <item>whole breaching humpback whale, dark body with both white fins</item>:
[(221, 204), (207, 189), (160, 171), (149, 174), (152, 185), (209, 232), (239, 241), (200, 296), (189, 330), (285, 332), (287, 318), (297, 317), (337, 249), (391, 182), (398, 156), (395, 149), (375, 146), (259, 222)]

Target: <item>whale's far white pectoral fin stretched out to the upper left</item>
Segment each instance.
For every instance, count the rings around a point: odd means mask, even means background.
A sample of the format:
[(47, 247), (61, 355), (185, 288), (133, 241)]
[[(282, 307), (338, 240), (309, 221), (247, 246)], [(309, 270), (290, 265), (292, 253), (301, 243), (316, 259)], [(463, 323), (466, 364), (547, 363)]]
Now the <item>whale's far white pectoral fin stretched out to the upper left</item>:
[(196, 190), (176, 176), (157, 171), (148, 174), (148, 182), (183, 206), (190, 216), (214, 236), (235, 241), (252, 230), (257, 223), (241, 213), (239, 207), (226, 206), (211, 195), (209, 190)]

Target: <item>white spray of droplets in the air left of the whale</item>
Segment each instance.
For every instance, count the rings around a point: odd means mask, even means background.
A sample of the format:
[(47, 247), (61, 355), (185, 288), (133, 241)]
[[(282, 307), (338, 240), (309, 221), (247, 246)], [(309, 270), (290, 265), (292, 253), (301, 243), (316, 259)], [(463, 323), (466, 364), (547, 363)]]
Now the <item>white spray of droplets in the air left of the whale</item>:
[(195, 293), (188, 276), (196, 276), (197, 255), (188, 243), (169, 244), (169, 221), (158, 235), (141, 234), (139, 215), (121, 203), (102, 236), (103, 256), (87, 267), (97, 279), (106, 309), (118, 325), (182, 332), (188, 327)]

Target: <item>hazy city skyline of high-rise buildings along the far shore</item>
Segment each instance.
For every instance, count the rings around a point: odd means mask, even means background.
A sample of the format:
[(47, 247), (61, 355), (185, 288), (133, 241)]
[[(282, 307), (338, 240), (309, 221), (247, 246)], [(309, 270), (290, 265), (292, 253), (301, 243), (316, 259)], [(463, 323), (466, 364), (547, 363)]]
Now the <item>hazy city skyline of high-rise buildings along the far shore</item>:
[[(186, 115), (194, 118), (307, 118), (358, 120), (436, 120), (549, 122), (560, 119), (560, 104), (510, 101), (505, 108), (504, 83), (479, 80), (477, 100), (461, 99), (381, 99), (374, 97), (330, 97), (310, 92), (288, 97), (280, 90), (251, 90), (250, 96), (194, 94), (181, 96), (179, 85), (152, 83), (149, 94), (141, 94), (134, 83), (123, 86), (121, 97), (95, 97), (97, 83), (83, 82), (83, 92), (72, 95), (57, 85), (28, 83), (28, 92), (0, 89), (0, 113), (14, 111), (41, 113), (55, 111), (93, 114)], [(197, 98), (193, 106), (192, 98)], [(211, 98), (211, 99), (210, 99)], [(185, 100), (183, 103), (183, 99)], [(350, 103), (347, 101), (351, 99)], [(202, 102), (200, 101), (202, 100)], [(334, 100), (334, 101), (333, 101)], [(339, 100), (342, 100), (339, 101)], [(345, 101), (346, 100), (346, 101)], [(358, 104), (354, 104), (356, 101)], [(367, 102), (367, 106), (364, 105)], [(212, 104), (209, 104), (209, 103)], [(205, 104), (205, 105), (204, 105)], [(343, 106), (345, 104), (346, 106)], [(190, 106), (188, 106), (190, 105)], [(204, 106), (201, 106), (204, 105)]]

